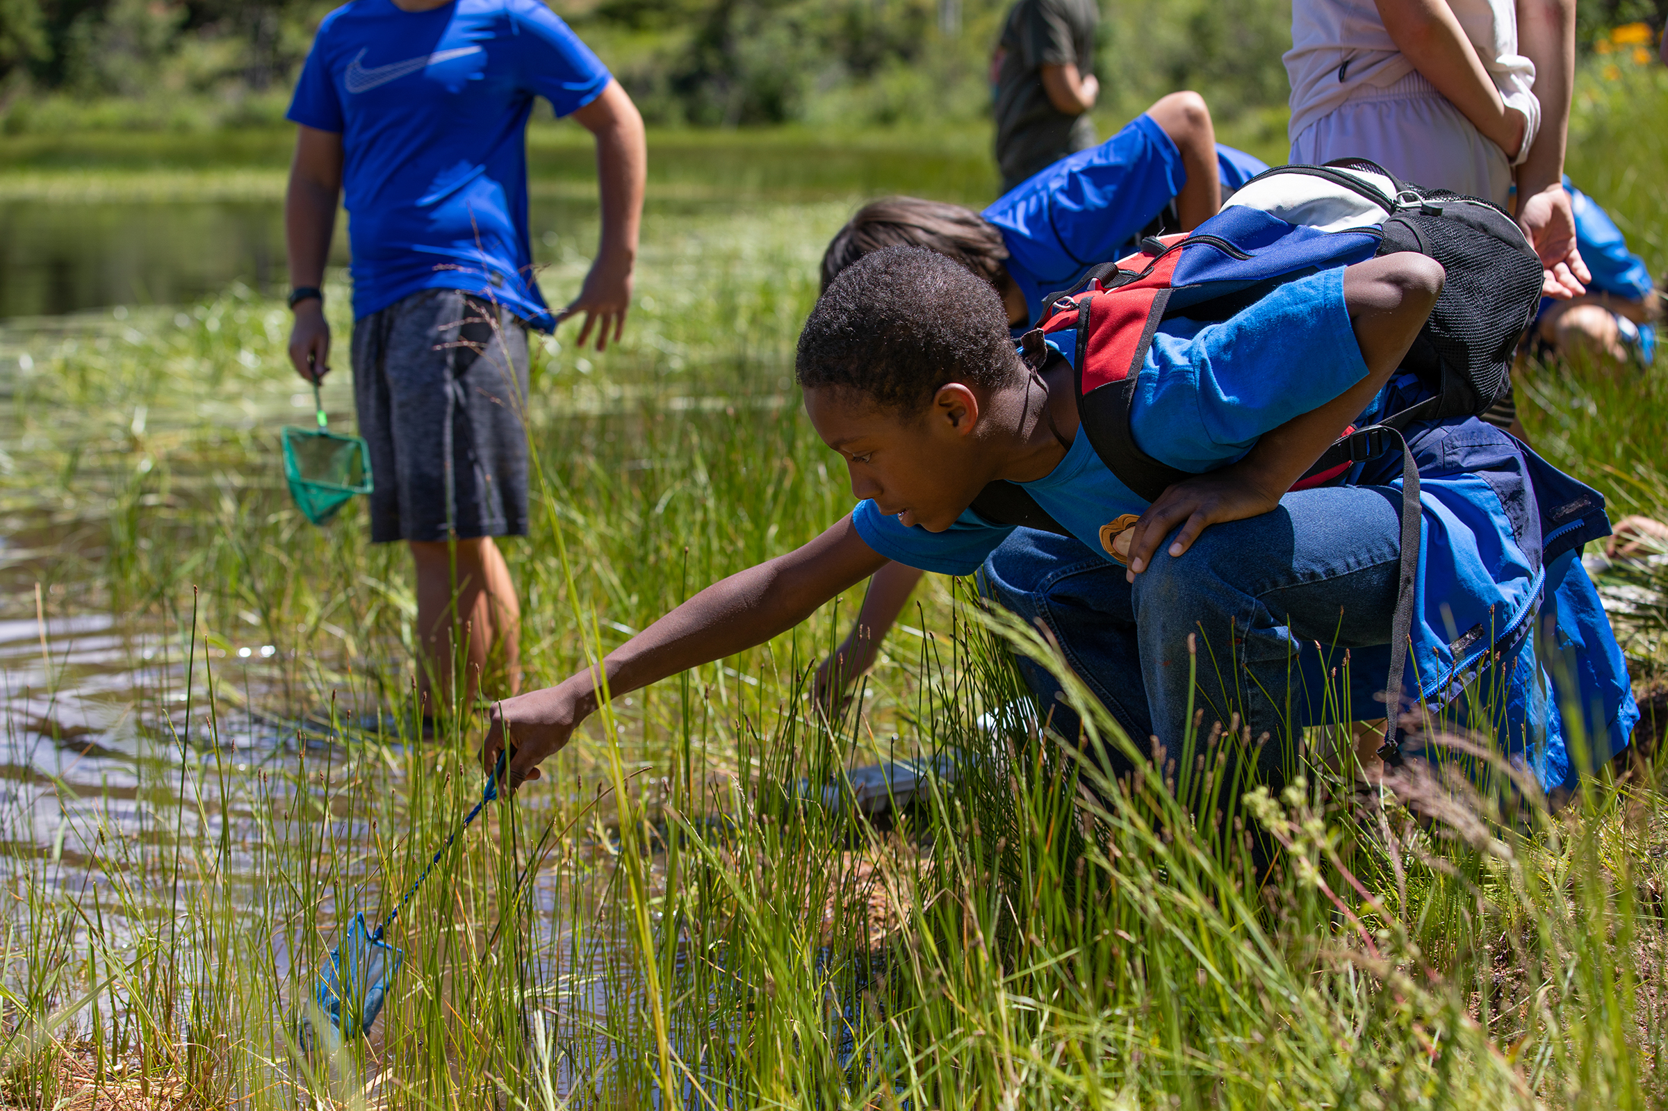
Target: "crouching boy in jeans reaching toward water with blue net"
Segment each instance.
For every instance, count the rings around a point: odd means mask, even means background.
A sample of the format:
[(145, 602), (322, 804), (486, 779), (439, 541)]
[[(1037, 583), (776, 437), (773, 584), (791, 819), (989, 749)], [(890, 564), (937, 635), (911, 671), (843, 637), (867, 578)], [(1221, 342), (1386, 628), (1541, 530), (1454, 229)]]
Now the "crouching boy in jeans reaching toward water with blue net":
[[(537, 764), (595, 711), (604, 677), (617, 697), (761, 644), (896, 559), (957, 574), (982, 564), (989, 592), (1049, 626), (1131, 736), (1156, 736), (1171, 751), (1189, 724), (1189, 634), (1223, 652), (1234, 644), (1234, 667), (1201, 667), (1199, 706), (1221, 721), (1238, 712), (1253, 737), (1271, 739), (1258, 766), (1278, 782), (1298, 727), (1324, 719), (1318, 692), (1308, 706), (1288, 704), (1293, 664), (1319, 641), (1354, 649), (1356, 672), (1368, 672), (1356, 681), (1383, 684), (1383, 664), (1373, 676), (1369, 661), (1384, 659), (1399, 569), (1393, 484), (1374, 475), (1371, 485), (1288, 490), (1351, 420), (1384, 404), (1441, 285), (1431, 259), (1393, 254), (1289, 282), (1224, 322), (1159, 325), (1131, 429), (1144, 452), (1198, 477), (1146, 504), (1081, 434), (1069, 362), (1031, 372), (987, 282), (922, 249), (866, 255), (824, 292), (797, 355), (806, 412), (846, 460), (862, 499), (856, 510), (679, 606), (610, 652), (604, 674), (587, 669), (499, 704), (482, 759), (495, 766), (507, 739), (510, 781), (537, 777)], [(1536, 667), (1521, 637), (1508, 644), (1485, 627), (1470, 637), (1478, 646), (1449, 644), (1431, 622), (1438, 611), (1461, 627), (1493, 614), (1506, 637), (1533, 614), (1546, 581), (1535, 564), (1558, 549), (1550, 535), (1543, 547), (1538, 519), (1518, 520), (1536, 512), (1530, 462), (1476, 419), (1431, 424), (1409, 440), (1428, 529), (1413, 692), (1463, 684), (1498, 647), (1521, 704), (1536, 681), (1521, 674)], [(996, 479), (1022, 484), (1071, 535), (972, 512)], [(1139, 522), (1109, 537), (1106, 524), (1126, 514)], [(1568, 571), (1570, 552), (1558, 559)], [(1620, 661), (1613, 639), (1575, 649), (1586, 652), (1575, 662), (1596, 671)], [(1611, 714), (1620, 742), (1628, 712), (1631, 699)], [(1361, 699), (1353, 716), (1381, 717), (1383, 707)], [(1605, 724), (1588, 734), (1595, 747)], [(1528, 736), (1546, 747), (1556, 729), (1543, 717), (1520, 744)]]

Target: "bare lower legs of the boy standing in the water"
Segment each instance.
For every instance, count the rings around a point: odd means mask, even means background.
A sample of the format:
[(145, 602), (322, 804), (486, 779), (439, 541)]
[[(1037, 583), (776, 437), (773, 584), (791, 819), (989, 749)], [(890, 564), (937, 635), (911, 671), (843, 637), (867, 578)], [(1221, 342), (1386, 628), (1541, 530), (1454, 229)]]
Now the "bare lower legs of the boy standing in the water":
[[(492, 537), (452, 545), (412, 540), (417, 564), (419, 691), (429, 712), (452, 696), (454, 661), (464, 674), (464, 706), (475, 699), (497, 644), (510, 694), (520, 686), (520, 601)], [(455, 589), (454, 589), (455, 584)], [(455, 604), (454, 604), (455, 602)], [(454, 636), (460, 637), (460, 651)]]

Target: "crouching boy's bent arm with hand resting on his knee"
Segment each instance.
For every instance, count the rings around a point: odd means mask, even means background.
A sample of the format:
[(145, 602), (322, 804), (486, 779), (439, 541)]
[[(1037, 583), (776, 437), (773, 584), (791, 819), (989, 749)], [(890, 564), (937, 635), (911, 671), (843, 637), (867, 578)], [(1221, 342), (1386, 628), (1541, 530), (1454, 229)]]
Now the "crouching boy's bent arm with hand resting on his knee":
[(1129, 581), (1146, 571), (1153, 552), (1176, 525), (1181, 530), (1171, 540), (1171, 556), (1186, 552), (1213, 524), (1274, 509), (1291, 484), (1384, 389), (1441, 292), (1443, 267), (1428, 255), (1401, 252), (1346, 267), (1344, 305), (1366, 377), (1319, 409), (1264, 432), (1239, 462), (1164, 490), (1123, 534), (1129, 537)]

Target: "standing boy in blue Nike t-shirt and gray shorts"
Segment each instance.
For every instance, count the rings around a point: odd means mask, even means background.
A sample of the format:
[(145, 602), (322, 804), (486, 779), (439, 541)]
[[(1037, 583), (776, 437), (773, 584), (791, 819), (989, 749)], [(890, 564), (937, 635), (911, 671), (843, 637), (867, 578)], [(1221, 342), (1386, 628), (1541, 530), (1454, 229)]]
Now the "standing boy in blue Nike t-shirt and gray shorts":
[[(535, 97), (597, 142), (602, 244), (552, 314), (527, 239), (525, 128)], [(289, 118), (290, 360), (329, 370), (324, 265), (352, 215), (354, 400), (370, 445), (370, 539), (417, 566), (419, 681), (464, 701), (490, 647), (519, 686), (520, 606), (495, 535), (527, 534), (527, 327), (585, 314), (579, 344), (619, 339), (642, 212), (631, 98), (539, 0), (352, 0), (319, 25)], [(429, 701), (432, 711), (435, 699)]]

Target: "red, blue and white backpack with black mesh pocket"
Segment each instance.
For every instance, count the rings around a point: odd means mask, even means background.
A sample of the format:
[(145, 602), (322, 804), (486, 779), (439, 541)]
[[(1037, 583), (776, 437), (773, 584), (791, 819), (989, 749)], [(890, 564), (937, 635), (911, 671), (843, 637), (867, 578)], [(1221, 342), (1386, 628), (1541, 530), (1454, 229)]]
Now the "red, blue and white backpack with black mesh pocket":
[[(1021, 354), (1041, 370), (1059, 357), (1046, 340), (1073, 345), (1083, 432), (1106, 467), (1149, 502), (1191, 477), (1143, 452), (1129, 425), (1159, 324), (1226, 320), (1286, 282), (1374, 255), (1416, 250), (1443, 264), (1443, 292), (1403, 360), (1426, 397), (1374, 425), (1346, 429), (1293, 487), (1339, 482), (1356, 462), (1401, 449), (1401, 591), (1388, 676), (1388, 692), (1399, 699), (1419, 552), (1419, 474), (1403, 430), (1418, 420), (1480, 415), (1506, 394), (1513, 352), (1540, 305), (1533, 247), (1498, 205), (1346, 160), (1259, 173), (1193, 232), (1149, 237), (1141, 249), (1051, 297), (1039, 327), (1021, 339)], [(989, 484), (972, 509), (1001, 524), (1069, 535), (1012, 482)], [(1386, 749), (1393, 737), (1394, 726)]]

